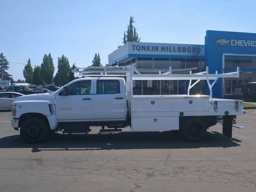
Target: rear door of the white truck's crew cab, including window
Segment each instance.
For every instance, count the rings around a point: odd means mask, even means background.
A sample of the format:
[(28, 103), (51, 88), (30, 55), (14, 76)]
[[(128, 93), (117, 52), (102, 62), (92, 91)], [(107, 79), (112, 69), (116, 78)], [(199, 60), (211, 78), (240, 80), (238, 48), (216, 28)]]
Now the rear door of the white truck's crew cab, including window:
[(124, 88), (124, 83), (120, 80), (95, 81), (96, 88), (94, 88), (92, 104), (93, 119), (125, 119), (126, 89)]

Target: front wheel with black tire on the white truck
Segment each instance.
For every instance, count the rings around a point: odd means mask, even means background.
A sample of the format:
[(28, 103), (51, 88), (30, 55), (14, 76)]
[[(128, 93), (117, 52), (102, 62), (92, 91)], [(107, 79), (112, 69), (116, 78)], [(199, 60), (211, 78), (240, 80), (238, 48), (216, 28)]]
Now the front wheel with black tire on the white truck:
[(49, 135), (49, 126), (41, 118), (29, 118), (20, 128), (20, 136), (27, 143), (44, 142)]

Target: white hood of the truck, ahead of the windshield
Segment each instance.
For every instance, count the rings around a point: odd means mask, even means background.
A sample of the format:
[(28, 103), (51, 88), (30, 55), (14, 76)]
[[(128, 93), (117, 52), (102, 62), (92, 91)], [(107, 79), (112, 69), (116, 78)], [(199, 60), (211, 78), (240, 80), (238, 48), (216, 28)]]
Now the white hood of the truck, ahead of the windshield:
[(49, 94), (49, 93), (38, 93), (38, 94), (31, 94), (31, 95), (24, 95), (14, 99), (12, 102), (17, 101), (49, 101), (51, 104), (55, 103), (55, 96), (56, 94)]

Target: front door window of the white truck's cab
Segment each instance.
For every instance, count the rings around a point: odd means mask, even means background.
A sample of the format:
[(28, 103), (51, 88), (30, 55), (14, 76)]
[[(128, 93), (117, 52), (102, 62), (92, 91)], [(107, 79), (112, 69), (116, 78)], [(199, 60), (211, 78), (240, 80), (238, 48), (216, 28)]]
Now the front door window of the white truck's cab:
[(68, 95), (88, 95), (91, 91), (91, 80), (77, 81), (68, 86)]

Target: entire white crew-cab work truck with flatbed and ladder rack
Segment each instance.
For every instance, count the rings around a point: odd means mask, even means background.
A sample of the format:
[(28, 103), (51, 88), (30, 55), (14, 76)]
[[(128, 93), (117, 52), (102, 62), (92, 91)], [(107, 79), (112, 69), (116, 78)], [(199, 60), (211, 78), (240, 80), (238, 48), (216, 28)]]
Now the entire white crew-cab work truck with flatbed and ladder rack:
[[(231, 137), (236, 115), (243, 115), (242, 100), (212, 98), (212, 86), (218, 78), (237, 78), (236, 72), (209, 74), (141, 74), (134, 67), (76, 68), (79, 78), (53, 94), (33, 94), (12, 102), (12, 127), (20, 128), (26, 142), (42, 142), (50, 132), (88, 133), (90, 126), (100, 132), (118, 132), (130, 126), (132, 131), (180, 130), (190, 142), (204, 138), (210, 126), (223, 125), (223, 134)], [(125, 80), (125, 79), (126, 80)], [(187, 95), (133, 95), (133, 80), (189, 80)], [(190, 95), (190, 89), (206, 80), (210, 96)], [(214, 80), (214, 82), (210, 82)], [(193, 83), (192, 83), (193, 82)], [(106, 128), (107, 127), (107, 128)]]

